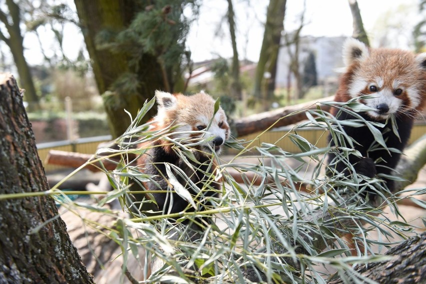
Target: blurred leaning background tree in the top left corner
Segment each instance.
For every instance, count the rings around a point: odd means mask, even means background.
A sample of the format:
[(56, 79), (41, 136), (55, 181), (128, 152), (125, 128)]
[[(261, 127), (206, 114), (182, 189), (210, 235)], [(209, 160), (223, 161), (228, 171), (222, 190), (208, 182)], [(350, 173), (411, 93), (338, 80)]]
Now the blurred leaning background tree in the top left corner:
[(35, 92), (34, 82), (32, 81), (31, 71), (23, 55), (23, 36), (20, 30), (21, 10), (13, 0), (6, 0), (7, 11), (1, 9), (0, 22), (6, 27), (8, 37), (0, 30), (0, 40), (4, 41), (10, 48), (16, 69), (19, 74), (19, 80), (25, 89), (25, 99), (28, 102), (29, 109), (38, 109), (38, 97)]

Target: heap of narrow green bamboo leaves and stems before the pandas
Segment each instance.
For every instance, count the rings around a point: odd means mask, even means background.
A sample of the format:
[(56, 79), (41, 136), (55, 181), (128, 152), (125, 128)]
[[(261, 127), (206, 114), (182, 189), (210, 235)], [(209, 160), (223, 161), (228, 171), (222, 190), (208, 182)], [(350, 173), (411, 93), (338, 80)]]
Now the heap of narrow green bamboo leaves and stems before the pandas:
[[(149, 123), (140, 123), (153, 104), (154, 100), (146, 102), (127, 131), (115, 141), (119, 150), (104, 148), (95, 155), (97, 159), (116, 162), (114, 171), (105, 171), (113, 190), (91, 205), (60, 199), (68, 208), (82, 206), (116, 217), (115, 224), (102, 226), (110, 232), (107, 237), (120, 244), (123, 275), (129, 255), (138, 259), (138, 249), (142, 248), (146, 257), (140, 262), (145, 273), (152, 263), (161, 264), (158, 270), (146, 275), (143, 283), (248, 283), (249, 275), (256, 274), (267, 283), (326, 283), (334, 273), (354, 283), (371, 283), (357, 275), (351, 266), (384, 260), (385, 257), (373, 253), (372, 246), (394, 244), (413, 229), (405, 222), (391, 222), (384, 216), (386, 205), (399, 214), (395, 204), (397, 198), (378, 179), (359, 175), (324, 176), (324, 155), (335, 149), (329, 146), (318, 148), (297, 135), (297, 130), (307, 127), (326, 129), (330, 131), (331, 139), (344, 141), (347, 137), (342, 131), (342, 123), (363, 125), (369, 122), (361, 119), (338, 121), (320, 106), (306, 111), (308, 120), (295, 126), (294, 133), (284, 135), (300, 148), (300, 153), (287, 152), (274, 144), (253, 146), (252, 141), (228, 141), (229, 147), (240, 152), (228, 161), (216, 157), (219, 162), (217, 174), (223, 178), (216, 197), (204, 196), (205, 192), (215, 190), (212, 187), (216, 182), (214, 176), (196, 186), (181, 169), (167, 165), (167, 178), (174, 185), (169, 191), (187, 196), (187, 189), (175, 184), (175, 177), (184, 177), (189, 181), (186, 186), (197, 193), (188, 209), (195, 207), (196, 210), (153, 214), (149, 205), (154, 200), (143, 189), (143, 182), (152, 181), (152, 177), (140, 173), (138, 166), (132, 163), (152, 146), (137, 148), (135, 141), (149, 142), (161, 137), (173, 145), (176, 154), (187, 165), (196, 161), (192, 147), (200, 143), (173, 140), (169, 136), (173, 128), (152, 131)], [(354, 100), (326, 104), (333, 104), (340, 111), (351, 111), (347, 106), (354, 110), (365, 107)], [(350, 139), (347, 141), (356, 143)], [(383, 147), (382, 139), (377, 137), (377, 145), (371, 147)], [(342, 160), (354, 151), (351, 145), (339, 150)], [(239, 159), (242, 156), (249, 156), (250, 161), (256, 162), (245, 162)], [(300, 166), (293, 166), (294, 161)], [(348, 166), (353, 170), (351, 165)], [(311, 167), (311, 174), (307, 174), (306, 167)], [(229, 175), (230, 170), (238, 172), (242, 182)], [(256, 182), (252, 180), (253, 175), (258, 176)], [(134, 185), (139, 186), (137, 191)], [(378, 205), (358, 194), (365, 190), (376, 191), (382, 197)], [(421, 191), (424, 189), (419, 189), (417, 194)], [(134, 201), (133, 194), (140, 193), (144, 193), (145, 198)], [(208, 199), (207, 206), (197, 203), (201, 199)], [(128, 217), (103, 207), (115, 200), (120, 202)], [(193, 221), (197, 227), (183, 225), (184, 220)], [(86, 225), (93, 226), (89, 220)], [(378, 234), (378, 241), (370, 237), (372, 232)], [(391, 234), (399, 236), (400, 240), (391, 239)], [(355, 256), (352, 256), (344, 236), (353, 236), (356, 240)]]

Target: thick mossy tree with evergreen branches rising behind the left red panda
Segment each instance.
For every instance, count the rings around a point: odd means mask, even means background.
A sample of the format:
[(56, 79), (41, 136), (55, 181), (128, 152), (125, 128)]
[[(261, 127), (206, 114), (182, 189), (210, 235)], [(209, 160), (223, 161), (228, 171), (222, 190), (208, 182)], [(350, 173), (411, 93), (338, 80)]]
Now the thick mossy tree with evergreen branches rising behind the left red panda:
[[(179, 91), (189, 21), (196, 0), (75, 0), (84, 41), (111, 133), (122, 134), (157, 89)], [(196, 9), (195, 9), (196, 10)], [(183, 83), (182, 83), (183, 86)], [(154, 108), (146, 119), (154, 114)]]

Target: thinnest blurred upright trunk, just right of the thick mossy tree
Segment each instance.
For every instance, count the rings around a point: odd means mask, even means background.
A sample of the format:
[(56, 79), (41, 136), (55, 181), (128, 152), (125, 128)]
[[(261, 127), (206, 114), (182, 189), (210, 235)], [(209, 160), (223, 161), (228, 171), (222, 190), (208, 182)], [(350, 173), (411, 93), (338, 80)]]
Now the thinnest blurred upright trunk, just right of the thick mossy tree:
[(228, 22), (229, 22), (229, 32), (232, 42), (232, 77), (230, 83), (230, 92), (231, 96), (234, 99), (241, 98), (241, 83), (239, 81), (239, 60), (238, 60), (238, 50), (236, 49), (236, 37), (235, 37), (235, 13), (233, 11), (232, 0), (228, 1)]

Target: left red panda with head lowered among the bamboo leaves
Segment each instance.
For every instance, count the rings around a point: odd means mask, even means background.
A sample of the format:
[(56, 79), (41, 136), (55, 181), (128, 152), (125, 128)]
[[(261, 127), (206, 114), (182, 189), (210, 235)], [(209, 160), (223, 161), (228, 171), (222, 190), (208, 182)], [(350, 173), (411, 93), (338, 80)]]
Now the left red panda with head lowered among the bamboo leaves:
[[(189, 158), (184, 161), (173, 149), (174, 144), (163, 138), (150, 142), (151, 147), (137, 159), (136, 163), (142, 173), (152, 177), (152, 181), (144, 183), (146, 190), (169, 191), (152, 193), (159, 211), (165, 214), (183, 210), (193, 211), (187, 199), (175, 192), (170, 193), (171, 190), (175, 190), (172, 187), (179, 185), (170, 182), (167, 171), (170, 171), (170, 165), (175, 166), (189, 177), (190, 181), (172, 171), (178, 183), (191, 194), (192, 198), (196, 197), (194, 203), (203, 205), (206, 197), (215, 196), (220, 188), (220, 181), (214, 180), (217, 162), (213, 158), (212, 151), (218, 154), (225, 140), (229, 138), (226, 115), (221, 107), (214, 112), (215, 101), (203, 91), (190, 96), (156, 91), (155, 97), (158, 111), (150, 121), (151, 130), (175, 127), (166, 135), (183, 145), (196, 144), (190, 147), (196, 161)], [(187, 161), (191, 165), (188, 165)], [(206, 181), (210, 184), (210, 188), (204, 186)], [(203, 188), (203, 191), (195, 192), (189, 183), (194, 184), (199, 190)]]

